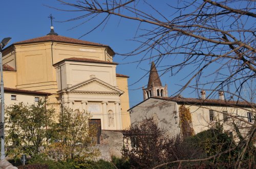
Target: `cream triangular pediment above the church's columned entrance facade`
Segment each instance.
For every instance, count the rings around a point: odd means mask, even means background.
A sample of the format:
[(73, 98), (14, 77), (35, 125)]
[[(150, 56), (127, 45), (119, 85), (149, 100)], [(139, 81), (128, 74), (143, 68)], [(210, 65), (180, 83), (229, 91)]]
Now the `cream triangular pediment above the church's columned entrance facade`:
[(104, 94), (123, 94), (123, 91), (109, 85), (108, 83), (98, 79), (92, 78), (74, 85), (66, 90), (67, 92), (82, 92), (82, 93), (104, 93)]

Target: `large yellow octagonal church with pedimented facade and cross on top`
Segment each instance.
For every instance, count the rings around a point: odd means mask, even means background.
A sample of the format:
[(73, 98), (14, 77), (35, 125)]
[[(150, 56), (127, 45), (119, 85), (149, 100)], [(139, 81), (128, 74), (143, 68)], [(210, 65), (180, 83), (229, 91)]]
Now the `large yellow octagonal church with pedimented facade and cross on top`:
[[(129, 76), (116, 73), (114, 54), (108, 45), (59, 36), (52, 27), (4, 49), (5, 87), (46, 94), (57, 111), (86, 110), (102, 130), (122, 130), (130, 126)], [(33, 102), (23, 95), (16, 101)], [(6, 105), (13, 103), (9, 97)]]

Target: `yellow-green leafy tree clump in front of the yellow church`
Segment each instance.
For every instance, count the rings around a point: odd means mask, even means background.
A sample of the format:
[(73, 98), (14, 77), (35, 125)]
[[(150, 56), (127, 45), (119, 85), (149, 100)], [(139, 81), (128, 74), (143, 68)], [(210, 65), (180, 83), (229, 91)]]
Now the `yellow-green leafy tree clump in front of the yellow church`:
[[(94, 159), (99, 154), (92, 148), (96, 126), (89, 126), (90, 114), (63, 108), (56, 112), (46, 100), (35, 104), (13, 104), (6, 108), (7, 155), (18, 158), (45, 154), (56, 161), (73, 160), (74, 165)], [(57, 121), (58, 120), (58, 123)]]

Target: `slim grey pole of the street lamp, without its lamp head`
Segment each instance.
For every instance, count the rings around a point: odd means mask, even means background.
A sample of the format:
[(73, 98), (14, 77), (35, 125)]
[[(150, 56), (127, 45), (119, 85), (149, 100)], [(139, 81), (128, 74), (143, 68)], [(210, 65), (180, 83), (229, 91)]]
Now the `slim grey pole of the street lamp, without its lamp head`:
[(5, 159), (5, 97), (4, 97), (4, 78), (3, 78), (3, 55), (0, 51), (0, 72), (1, 72), (1, 122), (3, 124), (3, 135), (1, 137), (1, 159)]

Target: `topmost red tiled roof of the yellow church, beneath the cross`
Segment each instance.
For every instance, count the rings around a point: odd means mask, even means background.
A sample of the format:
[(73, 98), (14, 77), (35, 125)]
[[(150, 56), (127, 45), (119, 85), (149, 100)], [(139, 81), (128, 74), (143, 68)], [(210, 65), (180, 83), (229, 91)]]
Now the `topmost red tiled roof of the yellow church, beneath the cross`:
[(59, 36), (59, 35), (46, 35), (46, 36), (43, 36), (43, 37), (38, 37), (38, 38), (28, 39), (28, 40), (25, 40), (25, 41), (15, 42), (13, 44), (14, 45), (19, 45), (19, 44), (28, 44), (28, 43), (36, 43), (36, 42), (48, 42), (48, 41), (50, 41), (50, 42), (82, 44), (82, 45), (90, 45), (90, 46), (103, 46), (103, 47), (109, 47), (111, 49), (111, 47), (108, 46), (108, 45), (95, 43), (95, 42), (89, 42), (89, 41), (83, 41), (83, 40), (74, 39), (74, 38), (68, 38), (68, 37)]

